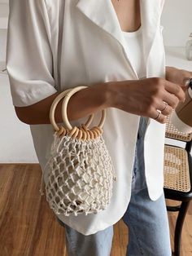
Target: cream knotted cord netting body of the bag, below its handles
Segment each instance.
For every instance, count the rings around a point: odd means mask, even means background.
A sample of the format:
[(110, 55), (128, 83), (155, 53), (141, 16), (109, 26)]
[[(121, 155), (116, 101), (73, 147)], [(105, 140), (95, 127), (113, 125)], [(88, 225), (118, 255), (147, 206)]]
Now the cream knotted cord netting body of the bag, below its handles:
[(83, 141), (55, 132), (50, 155), (46, 201), (55, 214), (106, 209), (116, 175), (102, 135)]

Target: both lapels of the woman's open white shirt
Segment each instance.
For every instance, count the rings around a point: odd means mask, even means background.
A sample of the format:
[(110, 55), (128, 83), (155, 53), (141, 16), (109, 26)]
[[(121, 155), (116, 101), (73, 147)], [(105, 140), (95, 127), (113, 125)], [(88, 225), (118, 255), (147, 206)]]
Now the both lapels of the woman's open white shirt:
[[(155, 40), (155, 33), (159, 28), (158, 23), (163, 9), (163, 2), (164, 0), (140, 0), (142, 29), (145, 34), (145, 37), (142, 38), (142, 44), (144, 60), (146, 61), (146, 77), (148, 74), (148, 57)], [(120, 23), (111, 0), (79, 0), (76, 7), (88, 17), (90, 21), (111, 34), (111, 37), (115, 38), (116, 41), (120, 43), (124, 55), (133, 70), (133, 75), (138, 79), (137, 73), (129, 60), (129, 55), (126, 51), (127, 42), (121, 32)]]

